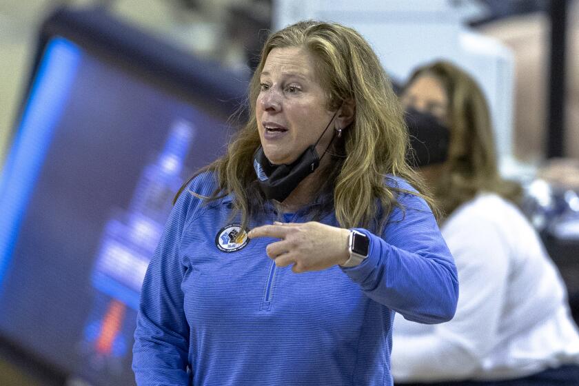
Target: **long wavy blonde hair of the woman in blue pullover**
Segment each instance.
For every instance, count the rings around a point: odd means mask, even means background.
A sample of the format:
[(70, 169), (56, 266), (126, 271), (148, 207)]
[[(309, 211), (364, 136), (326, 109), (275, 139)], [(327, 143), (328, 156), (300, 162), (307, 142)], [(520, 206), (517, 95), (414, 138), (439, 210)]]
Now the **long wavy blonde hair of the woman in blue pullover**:
[(354, 121), (333, 141), (329, 152), (332, 163), (321, 171), (326, 181), (321, 191), (332, 193), (340, 225), (383, 229), (393, 205), (400, 206), (397, 194), (408, 192), (385, 185), (387, 174), (407, 180), (436, 212), (423, 181), (406, 162), (409, 141), (403, 111), (378, 57), (352, 28), (321, 21), (295, 23), (265, 41), (250, 81), (247, 123), (224, 156), (195, 174), (212, 171), (217, 176), (218, 187), (205, 199), (212, 201), (232, 193), (234, 213), (241, 212), (244, 228), (248, 218), (262, 207), (265, 199), (256, 187), (253, 167), (254, 152), (261, 145), (255, 114), (259, 77), (267, 55), (274, 48), (289, 47), (305, 48), (316, 59), (316, 75), (327, 92), (328, 110), (338, 110), (347, 99), (355, 102)]

